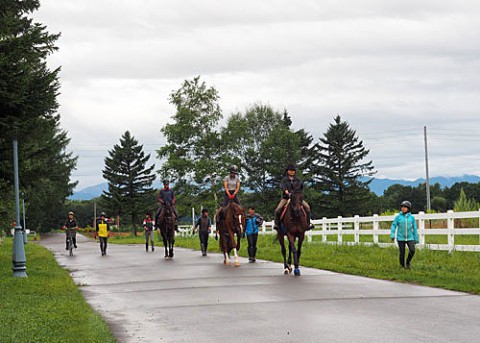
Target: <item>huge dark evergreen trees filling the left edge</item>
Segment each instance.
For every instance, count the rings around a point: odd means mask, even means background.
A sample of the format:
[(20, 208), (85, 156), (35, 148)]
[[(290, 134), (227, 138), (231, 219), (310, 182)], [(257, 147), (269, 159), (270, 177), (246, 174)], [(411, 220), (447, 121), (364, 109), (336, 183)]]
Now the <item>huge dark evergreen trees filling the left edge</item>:
[(58, 227), (56, 218), (76, 184), (70, 182), (76, 157), (66, 152), (70, 139), (59, 129), (59, 68), (46, 65), (59, 35), (34, 23), (31, 14), (38, 8), (34, 0), (0, 1), (0, 225), (9, 227), (14, 218), (16, 138), (27, 224), (43, 231)]

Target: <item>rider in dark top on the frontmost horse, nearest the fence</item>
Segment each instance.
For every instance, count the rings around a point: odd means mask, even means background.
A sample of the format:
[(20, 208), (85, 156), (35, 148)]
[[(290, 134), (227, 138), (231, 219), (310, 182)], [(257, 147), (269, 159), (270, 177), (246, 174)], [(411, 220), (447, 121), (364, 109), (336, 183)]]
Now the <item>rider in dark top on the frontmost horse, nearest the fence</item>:
[[(296, 175), (297, 168), (293, 164), (289, 164), (285, 170), (285, 175), (282, 179), (281, 188), (282, 188), (282, 199), (275, 209), (275, 224), (274, 229), (278, 231), (280, 228), (280, 216), (282, 210), (290, 198), (290, 194), (293, 192), (302, 192), (303, 191), (303, 181)], [(314, 228), (313, 224), (310, 222), (310, 206), (305, 200), (302, 201), (303, 208), (305, 209), (307, 215), (307, 231)]]

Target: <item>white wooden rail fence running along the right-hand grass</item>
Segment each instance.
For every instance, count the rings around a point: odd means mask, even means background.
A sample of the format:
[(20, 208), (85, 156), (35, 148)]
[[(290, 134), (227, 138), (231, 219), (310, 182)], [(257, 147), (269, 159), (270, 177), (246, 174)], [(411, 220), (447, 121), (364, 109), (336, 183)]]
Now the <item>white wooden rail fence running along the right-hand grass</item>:
[[(427, 248), (430, 250), (452, 251), (479, 251), (480, 252), (480, 210), (474, 212), (454, 212), (447, 213), (424, 213), (414, 214), (418, 226), (419, 245), (418, 248)], [(346, 245), (378, 245), (381, 247), (396, 245), (390, 242), (390, 226), (395, 215), (370, 217), (349, 217), (349, 218), (322, 218), (312, 220), (315, 229), (307, 232), (307, 242), (314, 241), (315, 236), (321, 237), (321, 242), (326, 244), (346, 244)], [(464, 227), (466, 225), (475, 227)], [(179, 227), (180, 234), (190, 235), (191, 225), (182, 225)], [(264, 222), (260, 234), (274, 234), (273, 221)], [(215, 235), (215, 226), (212, 227), (212, 235)], [(352, 236), (352, 241), (344, 241), (344, 236)], [(458, 236), (470, 235), (478, 236), (475, 243), (457, 244), (455, 239)], [(360, 236), (372, 236), (371, 242), (361, 241)], [(388, 236), (388, 243), (380, 242), (380, 236)], [(446, 244), (427, 244), (426, 236), (446, 236)], [(317, 241), (317, 240), (316, 240)]]

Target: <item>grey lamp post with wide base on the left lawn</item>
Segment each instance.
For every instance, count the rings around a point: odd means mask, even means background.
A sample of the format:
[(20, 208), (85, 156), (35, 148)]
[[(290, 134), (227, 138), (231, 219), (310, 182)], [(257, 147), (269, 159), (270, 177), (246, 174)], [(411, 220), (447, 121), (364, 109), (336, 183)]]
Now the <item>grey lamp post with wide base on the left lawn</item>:
[(20, 225), (20, 192), (19, 192), (19, 180), (18, 180), (18, 142), (15, 138), (13, 140), (13, 174), (15, 184), (15, 233), (13, 235), (13, 276), (15, 277), (27, 277), (27, 259), (25, 257), (24, 238), (22, 234), (22, 226)]

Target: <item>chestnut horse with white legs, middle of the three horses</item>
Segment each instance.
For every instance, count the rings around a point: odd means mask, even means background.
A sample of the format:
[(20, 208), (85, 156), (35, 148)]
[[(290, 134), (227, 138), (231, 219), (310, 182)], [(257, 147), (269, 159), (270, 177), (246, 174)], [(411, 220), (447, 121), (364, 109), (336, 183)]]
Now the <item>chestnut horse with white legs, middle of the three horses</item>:
[[(240, 239), (245, 230), (245, 211), (242, 206), (230, 201), (224, 213), (224, 218), (219, 220), (217, 216), (217, 231), (220, 233), (220, 249), (223, 253), (223, 263), (230, 265), (230, 252), (233, 250), (234, 266), (239, 267), (238, 251)], [(237, 239), (235, 240), (235, 235)]]

